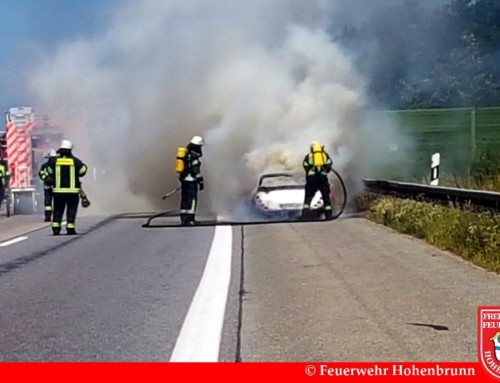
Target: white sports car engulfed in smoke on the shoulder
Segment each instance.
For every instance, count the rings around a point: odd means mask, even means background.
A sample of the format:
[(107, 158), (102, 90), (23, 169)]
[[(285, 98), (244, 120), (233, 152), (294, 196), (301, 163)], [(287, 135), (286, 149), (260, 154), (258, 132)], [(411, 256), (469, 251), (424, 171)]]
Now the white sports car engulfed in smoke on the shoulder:
[[(304, 204), (305, 185), (297, 183), (290, 173), (268, 173), (259, 179), (252, 196), (252, 205), (267, 216), (298, 218)], [(317, 192), (311, 203), (318, 215), (323, 209), (323, 198)]]

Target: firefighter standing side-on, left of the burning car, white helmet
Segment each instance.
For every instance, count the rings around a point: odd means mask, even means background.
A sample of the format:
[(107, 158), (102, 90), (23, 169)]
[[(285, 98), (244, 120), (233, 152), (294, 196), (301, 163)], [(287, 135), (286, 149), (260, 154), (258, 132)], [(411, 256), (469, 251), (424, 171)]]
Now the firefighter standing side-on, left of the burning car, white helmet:
[(181, 182), (181, 225), (194, 225), (196, 205), (198, 203), (198, 188), (203, 190), (205, 185), (201, 175), (200, 157), (203, 155), (201, 147), (205, 145), (202, 137), (194, 136), (186, 146), (184, 171), (180, 173)]

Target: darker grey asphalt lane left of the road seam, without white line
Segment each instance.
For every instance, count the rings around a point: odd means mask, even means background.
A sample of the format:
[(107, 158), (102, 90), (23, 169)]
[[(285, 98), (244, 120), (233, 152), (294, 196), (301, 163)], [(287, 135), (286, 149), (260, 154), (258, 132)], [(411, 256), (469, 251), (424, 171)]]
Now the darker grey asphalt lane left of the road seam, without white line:
[[(141, 223), (85, 218), (78, 237), (43, 229), (0, 248), (0, 360), (168, 361), (214, 229)], [(238, 281), (231, 286), (221, 360), (236, 355)]]

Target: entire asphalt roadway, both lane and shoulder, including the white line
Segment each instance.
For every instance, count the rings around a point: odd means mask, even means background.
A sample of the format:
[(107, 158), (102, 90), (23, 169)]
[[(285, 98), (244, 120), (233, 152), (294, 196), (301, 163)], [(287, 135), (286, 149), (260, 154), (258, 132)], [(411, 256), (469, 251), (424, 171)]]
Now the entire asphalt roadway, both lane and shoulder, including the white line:
[(476, 361), (498, 304), (498, 275), (361, 218), (143, 222), (2, 239), (0, 360)]

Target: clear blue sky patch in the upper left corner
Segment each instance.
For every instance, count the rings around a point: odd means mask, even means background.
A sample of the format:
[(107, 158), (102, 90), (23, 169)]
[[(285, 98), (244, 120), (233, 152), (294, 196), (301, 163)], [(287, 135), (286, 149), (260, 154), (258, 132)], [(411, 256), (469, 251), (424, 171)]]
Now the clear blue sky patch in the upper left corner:
[(1, 0), (0, 108), (30, 101), (26, 77), (40, 54), (96, 37), (121, 0)]

